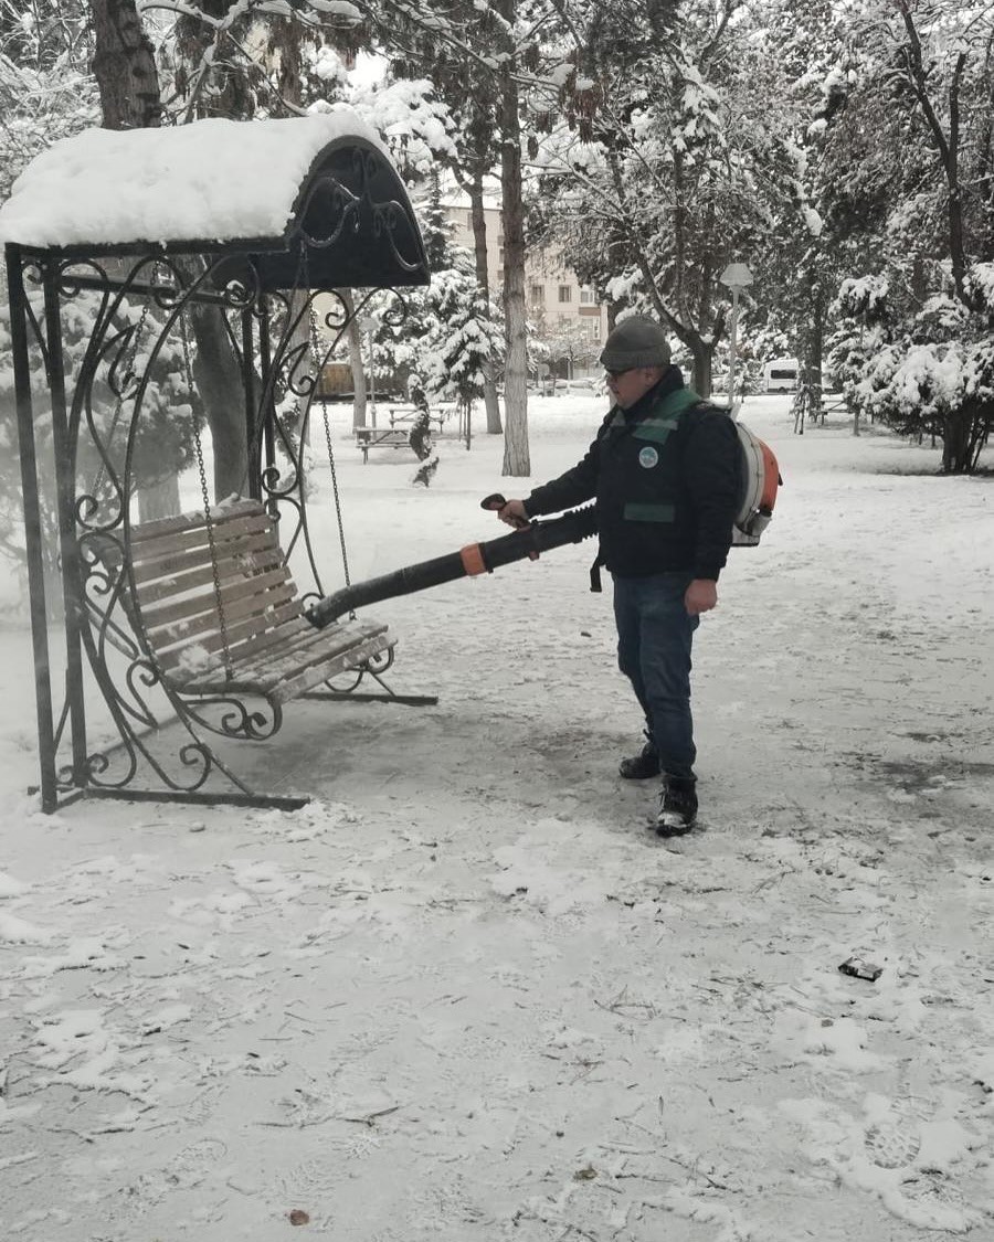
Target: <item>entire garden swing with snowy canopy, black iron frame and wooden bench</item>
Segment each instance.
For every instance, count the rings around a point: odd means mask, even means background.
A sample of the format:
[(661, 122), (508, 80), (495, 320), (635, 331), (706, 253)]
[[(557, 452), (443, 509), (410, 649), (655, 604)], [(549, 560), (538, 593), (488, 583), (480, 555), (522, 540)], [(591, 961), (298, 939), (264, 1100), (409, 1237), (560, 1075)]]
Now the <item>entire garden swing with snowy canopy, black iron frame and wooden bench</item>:
[[(246, 189), (246, 168), (267, 169), (265, 193)], [(350, 615), (318, 631), (303, 615), (324, 590), (306, 484), (318, 376), (374, 294), (391, 299), (400, 323), (400, 289), (430, 279), (396, 169), (379, 137), (343, 111), (93, 129), (32, 161), (0, 207), (0, 242), (42, 809), (78, 797), (301, 806), (304, 795), (250, 787), (229, 743), (273, 737), (282, 704), (297, 698), (436, 702), (385, 684), (385, 625)], [(65, 348), (70, 307), (87, 333), (75, 351)], [(245, 498), (232, 503), (207, 497), (203, 411), (194, 417), (179, 399), (184, 385), (196, 389), (189, 325), (203, 334), (198, 350), (227, 342), (231, 443), (212, 450), (215, 465), (222, 452), (246, 462)], [(132, 520), (160, 457), (176, 465), (181, 432), (170, 420), (184, 406), (203, 507)], [(359, 693), (367, 677), (375, 693)], [(278, 786), (280, 764), (265, 766)]]

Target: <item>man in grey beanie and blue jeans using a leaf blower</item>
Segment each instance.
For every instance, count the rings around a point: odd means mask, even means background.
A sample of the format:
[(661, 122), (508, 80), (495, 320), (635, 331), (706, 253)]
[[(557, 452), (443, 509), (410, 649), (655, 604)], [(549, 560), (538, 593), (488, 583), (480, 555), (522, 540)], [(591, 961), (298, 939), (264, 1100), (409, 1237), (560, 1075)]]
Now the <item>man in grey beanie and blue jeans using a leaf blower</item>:
[(586, 456), (498, 517), (508, 525), (596, 498), (598, 563), (614, 579), (618, 662), (646, 720), (646, 744), (621, 776), (663, 777), (656, 831), (697, 818), (691, 643), (718, 602), (741, 488), (728, 415), (685, 388), (657, 323), (624, 319), (600, 361), (614, 404)]

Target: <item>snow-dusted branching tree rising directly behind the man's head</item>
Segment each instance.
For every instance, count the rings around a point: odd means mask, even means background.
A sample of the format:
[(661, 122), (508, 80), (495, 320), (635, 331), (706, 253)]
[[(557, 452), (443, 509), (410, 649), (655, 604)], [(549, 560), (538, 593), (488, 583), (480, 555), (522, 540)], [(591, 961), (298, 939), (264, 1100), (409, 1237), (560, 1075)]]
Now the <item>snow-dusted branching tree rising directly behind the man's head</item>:
[(678, 24), (671, 4), (595, 7), (565, 122), (534, 159), (570, 266), (611, 302), (654, 313), (702, 394), (726, 328), (717, 278), (764, 227), (737, 7), (686, 0)]

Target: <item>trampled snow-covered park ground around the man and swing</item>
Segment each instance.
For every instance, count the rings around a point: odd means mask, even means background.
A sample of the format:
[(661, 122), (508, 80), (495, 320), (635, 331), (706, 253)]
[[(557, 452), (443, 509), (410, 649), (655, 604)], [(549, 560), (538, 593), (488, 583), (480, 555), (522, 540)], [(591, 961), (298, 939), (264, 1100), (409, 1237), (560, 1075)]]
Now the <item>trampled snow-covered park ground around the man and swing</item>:
[[(291, 704), (241, 761), (292, 815), (37, 814), (10, 623), (5, 1237), (994, 1238), (994, 483), (788, 402), (747, 404), (787, 486), (698, 632), (678, 842), (615, 775), (590, 544), (380, 605), (439, 705)], [(536, 482), (601, 406), (533, 401)], [(501, 442), (429, 492), (338, 442), (354, 579), (503, 532)]]

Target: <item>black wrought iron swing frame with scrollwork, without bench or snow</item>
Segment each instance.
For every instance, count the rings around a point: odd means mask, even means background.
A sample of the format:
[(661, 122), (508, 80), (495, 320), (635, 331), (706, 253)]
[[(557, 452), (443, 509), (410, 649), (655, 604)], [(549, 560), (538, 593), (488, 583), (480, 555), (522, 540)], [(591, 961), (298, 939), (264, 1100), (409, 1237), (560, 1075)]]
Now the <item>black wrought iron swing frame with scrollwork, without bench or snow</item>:
[[(42, 809), (55, 811), (83, 796), (283, 809), (303, 805), (306, 796), (253, 791), (207, 738), (267, 740), (281, 727), (280, 704), (268, 704), (267, 712), (250, 707), (240, 693), (230, 698), (185, 697), (163, 674), (140, 614), (135, 625), (133, 611), (127, 611), (134, 589), (135, 447), (152, 371), (170, 337), (178, 327), (185, 332), (184, 315), (193, 307), (220, 308), (241, 369), (247, 496), (278, 522), (287, 561), (296, 555), (306, 566), (313, 589), (303, 599), (326, 594), (308, 520), (304, 468), (313, 401), (324, 364), (369, 298), (388, 291), (395, 299), (389, 314), (400, 322), (405, 304), (398, 289), (429, 282), (424, 245), (403, 184), (376, 147), (358, 135), (343, 137), (313, 161), (280, 237), (48, 248), (9, 242), (6, 266)], [(29, 296), (32, 286), (40, 292), (37, 309)], [(345, 288), (367, 292), (349, 306), (339, 292)], [(70, 374), (63, 313), (83, 291), (96, 292), (99, 304), (82, 361)], [(302, 334), (301, 328), (303, 317), (311, 328), (314, 299), (321, 294), (337, 297), (338, 309), (322, 317), (324, 344), (312, 351), (301, 340), (316, 339), (316, 334)], [(122, 325), (125, 309), (139, 306), (144, 309), (138, 324)], [(135, 370), (134, 358), (143, 347), (140, 332), (150, 309), (155, 337)], [(41, 358), (47, 402), (36, 402), (32, 348)], [(104, 425), (107, 411), (94, 399), (94, 384), (101, 379), (116, 402), (109, 425)], [(277, 414), (277, 397), (287, 395), (301, 406), (296, 435)], [(53, 510), (55, 532), (46, 532), (41, 481), (47, 477), (47, 463), (39, 460), (36, 436), (48, 417), (55, 487), (48, 512)], [(323, 419), (348, 582), (327, 406)], [(198, 458), (203, 477), (199, 441)], [(97, 468), (89, 487), (81, 482), (87, 463)], [(53, 565), (57, 578), (50, 591), (47, 566)], [(52, 600), (52, 595), (61, 600)], [(63, 614), (61, 705), (52, 664), (53, 604)], [(350, 669), (348, 686), (331, 684), (306, 697), (435, 702), (431, 696), (395, 694), (381, 676), (391, 662), (393, 650), (379, 664), (369, 661)], [(379, 692), (362, 688), (367, 678)], [(98, 750), (91, 750), (87, 737), (93, 687), (117, 730), (117, 737)], [(149, 704), (155, 692), (168, 703), (168, 719), (160, 719)], [(166, 729), (175, 729), (176, 722), (180, 741), (163, 758)], [(221, 789), (216, 787), (219, 780)]]

